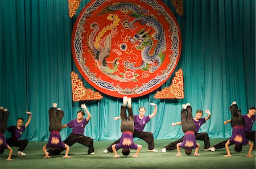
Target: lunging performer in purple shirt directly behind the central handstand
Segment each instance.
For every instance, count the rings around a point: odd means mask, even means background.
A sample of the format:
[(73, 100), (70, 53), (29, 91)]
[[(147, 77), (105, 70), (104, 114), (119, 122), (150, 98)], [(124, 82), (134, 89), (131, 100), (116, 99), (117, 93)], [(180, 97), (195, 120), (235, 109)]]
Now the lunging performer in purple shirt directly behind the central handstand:
[[(146, 109), (144, 107), (139, 107), (139, 115), (134, 115), (134, 133), (133, 137), (141, 138), (142, 140), (146, 141), (148, 144), (148, 152), (158, 152), (155, 150), (155, 142), (153, 133), (151, 132), (143, 132), (143, 129), (148, 121), (152, 117), (156, 115), (157, 112), (157, 105), (155, 103), (150, 103), (155, 107), (154, 112), (149, 116), (144, 116), (146, 113)], [(121, 117), (115, 117), (114, 120), (121, 119)], [(112, 145), (119, 143), (120, 138), (113, 142)], [(112, 145), (110, 145), (106, 150), (103, 151), (103, 153), (113, 152), (112, 151)]]

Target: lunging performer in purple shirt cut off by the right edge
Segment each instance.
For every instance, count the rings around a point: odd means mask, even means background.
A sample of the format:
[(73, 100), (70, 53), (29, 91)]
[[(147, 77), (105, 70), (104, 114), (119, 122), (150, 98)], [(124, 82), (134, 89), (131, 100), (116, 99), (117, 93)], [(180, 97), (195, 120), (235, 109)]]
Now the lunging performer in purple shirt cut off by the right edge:
[[(243, 121), (245, 122), (244, 130), (245, 130), (245, 137), (254, 142), (253, 149), (255, 150), (255, 130), (251, 130), (253, 128), (253, 123), (255, 121), (255, 107), (250, 107), (248, 110), (247, 115), (242, 115)], [(228, 124), (231, 122), (230, 120), (224, 121), (224, 125)], [(214, 145), (213, 147), (210, 148), (210, 151), (215, 151), (216, 149), (222, 149), (225, 147), (226, 142), (228, 140), (222, 141), (218, 143), (217, 145)]]

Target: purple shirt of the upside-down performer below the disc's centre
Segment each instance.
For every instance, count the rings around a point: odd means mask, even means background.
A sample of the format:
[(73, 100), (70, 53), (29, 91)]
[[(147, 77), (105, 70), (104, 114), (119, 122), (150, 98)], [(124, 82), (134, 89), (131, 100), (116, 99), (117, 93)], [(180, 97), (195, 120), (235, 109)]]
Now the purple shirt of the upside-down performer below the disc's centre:
[[(125, 142), (124, 142), (125, 140)], [(130, 142), (127, 145), (127, 142)], [(121, 140), (118, 144), (115, 145), (115, 149), (119, 150), (121, 148), (130, 148), (130, 149), (138, 149), (138, 145), (135, 145), (133, 142), (133, 132), (123, 132)]]

